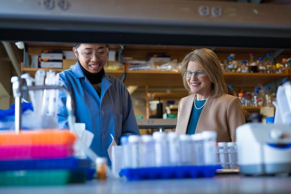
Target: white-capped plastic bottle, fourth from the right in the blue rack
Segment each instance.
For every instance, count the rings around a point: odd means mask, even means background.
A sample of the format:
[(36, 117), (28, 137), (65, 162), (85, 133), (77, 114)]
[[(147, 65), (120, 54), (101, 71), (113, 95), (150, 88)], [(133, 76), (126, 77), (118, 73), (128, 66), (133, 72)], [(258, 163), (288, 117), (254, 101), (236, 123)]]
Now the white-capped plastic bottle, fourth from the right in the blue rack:
[(179, 135), (174, 131), (167, 133), (169, 147), (169, 165), (178, 166), (180, 164), (180, 142)]

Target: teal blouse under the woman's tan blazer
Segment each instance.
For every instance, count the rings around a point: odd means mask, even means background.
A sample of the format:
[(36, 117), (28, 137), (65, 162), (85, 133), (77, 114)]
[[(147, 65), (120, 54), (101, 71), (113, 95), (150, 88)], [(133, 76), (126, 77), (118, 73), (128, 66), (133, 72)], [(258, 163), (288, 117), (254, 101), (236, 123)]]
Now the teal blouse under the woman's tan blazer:
[[(206, 100), (195, 100), (196, 107), (203, 106)], [(202, 108), (203, 109), (203, 108)], [(191, 115), (188, 122), (187, 134), (194, 134), (202, 109), (196, 109), (193, 103)]]

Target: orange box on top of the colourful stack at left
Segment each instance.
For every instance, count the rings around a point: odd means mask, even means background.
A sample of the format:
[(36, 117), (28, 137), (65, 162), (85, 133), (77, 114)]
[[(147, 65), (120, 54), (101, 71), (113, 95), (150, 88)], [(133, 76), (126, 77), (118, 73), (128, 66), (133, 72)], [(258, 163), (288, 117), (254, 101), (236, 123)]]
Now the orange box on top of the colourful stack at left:
[(65, 129), (26, 130), (0, 133), (0, 146), (20, 145), (72, 145), (76, 135)]

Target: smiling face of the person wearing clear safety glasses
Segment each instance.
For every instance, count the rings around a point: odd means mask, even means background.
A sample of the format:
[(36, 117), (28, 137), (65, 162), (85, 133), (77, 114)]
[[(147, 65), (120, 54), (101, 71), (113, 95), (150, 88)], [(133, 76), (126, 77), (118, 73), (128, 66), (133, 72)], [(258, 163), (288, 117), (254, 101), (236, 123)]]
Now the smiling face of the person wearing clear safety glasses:
[(107, 61), (108, 48), (106, 45), (80, 44), (78, 49), (73, 48), (73, 52), (84, 69), (98, 73)]

